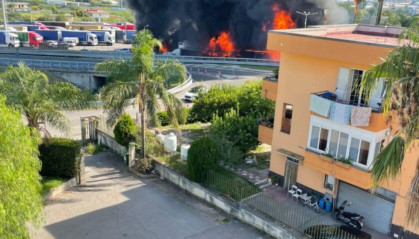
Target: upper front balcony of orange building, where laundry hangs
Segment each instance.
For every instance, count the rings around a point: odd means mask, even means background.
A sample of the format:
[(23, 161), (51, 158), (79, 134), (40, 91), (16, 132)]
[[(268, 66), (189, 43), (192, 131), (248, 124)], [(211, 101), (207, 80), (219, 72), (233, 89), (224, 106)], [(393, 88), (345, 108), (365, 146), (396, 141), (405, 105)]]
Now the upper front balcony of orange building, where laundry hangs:
[[(366, 104), (359, 104), (358, 102), (339, 100), (339, 99), (337, 99), (336, 95), (332, 94), (329, 91), (323, 91), (323, 92), (317, 92), (317, 93), (311, 93), (311, 94), (312, 95), (317, 95), (317, 96), (319, 96), (321, 98), (324, 98), (324, 99), (327, 99), (328, 101), (337, 102), (337, 103), (341, 103), (341, 104), (344, 104), (344, 105), (372, 108), (371, 117), (369, 119), (368, 126), (355, 126), (355, 127), (359, 127), (359, 128), (362, 128), (362, 129), (373, 131), (373, 132), (378, 132), (378, 131), (384, 130), (384, 129), (389, 127), (386, 124), (386, 119), (385, 119), (384, 113), (383, 113), (382, 109), (380, 108), (381, 104), (380, 105), (377, 104), (377, 107), (372, 107), (372, 106), (369, 106), (369, 105), (366, 105)], [(316, 112), (313, 112), (313, 111), (312, 111), (312, 114), (315, 115), (315, 116), (318, 116), (318, 117), (329, 119), (329, 117), (325, 117), (323, 115), (316, 114)], [(331, 120), (333, 120), (333, 119), (331, 119)], [(352, 123), (350, 123), (350, 122), (348, 122), (348, 124), (352, 125)]]

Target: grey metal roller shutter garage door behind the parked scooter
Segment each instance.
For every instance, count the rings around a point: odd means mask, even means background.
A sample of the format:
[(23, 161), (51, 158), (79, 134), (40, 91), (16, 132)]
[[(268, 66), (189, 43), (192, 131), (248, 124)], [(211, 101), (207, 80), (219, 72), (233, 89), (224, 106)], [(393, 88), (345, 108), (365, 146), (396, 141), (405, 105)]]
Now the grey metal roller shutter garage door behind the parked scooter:
[(389, 235), (394, 202), (340, 181), (336, 206), (339, 207), (345, 200), (352, 202), (345, 208), (347, 212), (360, 214), (364, 217), (362, 222), (365, 226)]

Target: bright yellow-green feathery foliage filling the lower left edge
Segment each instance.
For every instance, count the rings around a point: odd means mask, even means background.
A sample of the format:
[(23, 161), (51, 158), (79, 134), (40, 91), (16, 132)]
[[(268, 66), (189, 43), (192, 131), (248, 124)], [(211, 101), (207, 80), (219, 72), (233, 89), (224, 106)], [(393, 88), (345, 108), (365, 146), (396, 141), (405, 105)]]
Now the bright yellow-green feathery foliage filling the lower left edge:
[(27, 224), (39, 226), (43, 209), (38, 132), (0, 95), (0, 238), (29, 238)]

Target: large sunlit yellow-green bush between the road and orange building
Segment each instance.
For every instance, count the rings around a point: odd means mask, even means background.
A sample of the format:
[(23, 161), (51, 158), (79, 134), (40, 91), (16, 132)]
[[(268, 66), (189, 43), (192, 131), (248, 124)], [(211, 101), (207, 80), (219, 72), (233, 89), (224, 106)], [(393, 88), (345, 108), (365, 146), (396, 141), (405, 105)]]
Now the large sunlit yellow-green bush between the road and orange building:
[(215, 85), (207, 94), (194, 101), (191, 121), (208, 122), (215, 114), (223, 117), (240, 107), (241, 116), (273, 117), (275, 102), (262, 97), (262, 81), (246, 82), (241, 86)]

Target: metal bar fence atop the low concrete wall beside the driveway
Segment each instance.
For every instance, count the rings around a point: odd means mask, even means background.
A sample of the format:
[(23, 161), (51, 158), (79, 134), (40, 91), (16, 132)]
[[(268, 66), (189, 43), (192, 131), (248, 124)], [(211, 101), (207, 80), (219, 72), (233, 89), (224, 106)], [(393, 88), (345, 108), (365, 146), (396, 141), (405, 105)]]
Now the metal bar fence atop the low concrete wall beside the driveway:
[[(156, 140), (146, 140), (146, 154), (153, 160), (188, 177), (188, 161), (182, 159), (179, 152), (167, 149)], [(230, 178), (216, 170), (208, 170), (207, 179), (202, 184), (228, 201), (246, 207), (303, 236), (314, 239), (358, 239), (337, 227), (331, 227), (317, 216), (304, 211), (297, 206), (298, 204), (278, 201), (251, 182)]]

